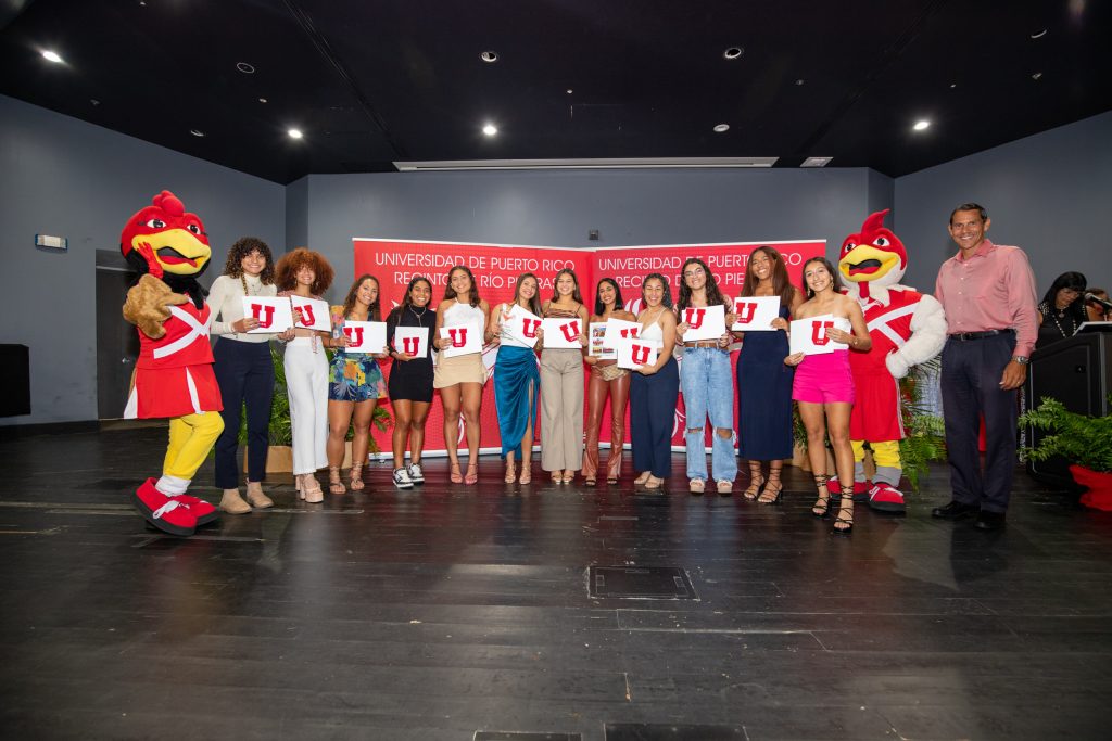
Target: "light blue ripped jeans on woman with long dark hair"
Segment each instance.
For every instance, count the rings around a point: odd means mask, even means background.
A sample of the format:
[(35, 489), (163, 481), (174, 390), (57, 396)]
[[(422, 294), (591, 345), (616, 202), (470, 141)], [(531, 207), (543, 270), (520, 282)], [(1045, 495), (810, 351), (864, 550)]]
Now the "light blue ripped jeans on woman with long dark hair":
[[(711, 417), (711, 439), (715, 481), (737, 478), (734, 453), (734, 373), (729, 353), (715, 348), (685, 348), (679, 366), (687, 423), (687, 478), (706, 480), (706, 418)], [(696, 430), (692, 432), (692, 430)], [(728, 430), (722, 437), (719, 430)]]

